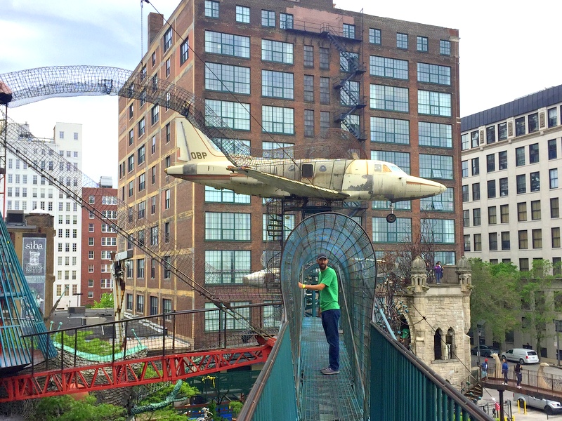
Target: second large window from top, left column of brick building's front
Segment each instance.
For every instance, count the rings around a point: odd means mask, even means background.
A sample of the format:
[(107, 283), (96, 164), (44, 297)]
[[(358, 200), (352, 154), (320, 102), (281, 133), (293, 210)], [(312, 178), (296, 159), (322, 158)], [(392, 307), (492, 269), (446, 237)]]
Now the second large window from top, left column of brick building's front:
[(230, 93), (250, 93), (249, 67), (205, 63), (205, 89)]

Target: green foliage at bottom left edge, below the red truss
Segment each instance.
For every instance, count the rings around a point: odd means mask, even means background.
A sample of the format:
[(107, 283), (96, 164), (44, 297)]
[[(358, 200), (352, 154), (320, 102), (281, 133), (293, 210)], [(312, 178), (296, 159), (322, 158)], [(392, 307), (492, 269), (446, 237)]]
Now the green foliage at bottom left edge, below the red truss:
[(37, 420), (41, 421), (125, 421), (125, 409), (102, 403), (86, 396), (77, 400), (70, 395), (43, 398), (37, 405)]

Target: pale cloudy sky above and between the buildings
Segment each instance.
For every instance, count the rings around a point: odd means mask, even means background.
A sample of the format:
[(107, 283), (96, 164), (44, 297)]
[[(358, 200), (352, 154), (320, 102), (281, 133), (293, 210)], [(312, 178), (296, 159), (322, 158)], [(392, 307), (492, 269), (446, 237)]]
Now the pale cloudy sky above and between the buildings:
[[(169, 18), (179, 0), (0, 0), (0, 74), (100, 65), (133, 70), (146, 51), (148, 13)], [(234, 1), (234, 0), (223, 0)], [(562, 84), (562, 1), (334, 0), (336, 8), (459, 29), (461, 116)], [(142, 7), (141, 7), (142, 5)], [(117, 98), (53, 98), (8, 108), (38, 138), (57, 122), (81, 123), (82, 171), (117, 187)]]

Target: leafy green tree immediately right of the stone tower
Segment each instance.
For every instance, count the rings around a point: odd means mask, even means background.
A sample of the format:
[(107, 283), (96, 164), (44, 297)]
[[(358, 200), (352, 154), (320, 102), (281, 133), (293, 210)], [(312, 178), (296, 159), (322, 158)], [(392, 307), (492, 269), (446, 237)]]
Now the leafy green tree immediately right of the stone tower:
[(492, 339), (502, 342), (506, 333), (521, 326), (519, 273), (512, 263), (492, 265), (471, 259), (472, 285), (470, 298), (471, 326), (481, 321), (492, 331)]

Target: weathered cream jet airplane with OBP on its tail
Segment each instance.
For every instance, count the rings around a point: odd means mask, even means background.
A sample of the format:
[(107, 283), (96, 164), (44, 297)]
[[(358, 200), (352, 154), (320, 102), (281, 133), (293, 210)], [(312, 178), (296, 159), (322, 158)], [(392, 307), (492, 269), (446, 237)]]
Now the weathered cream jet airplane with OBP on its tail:
[[(277, 199), (391, 202), (386, 220), (396, 221), (393, 203), (436, 196), (444, 185), (408, 175), (394, 163), (372, 159), (268, 159), (244, 156), (236, 166), (200, 129), (176, 119), (178, 161), (164, 169), (168, 175), (215, 189), (230, 189)], [(242, 158), (242, 156), (240, 156)]]

